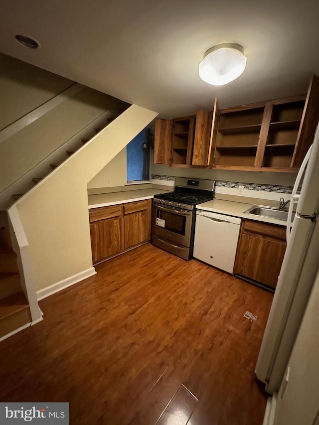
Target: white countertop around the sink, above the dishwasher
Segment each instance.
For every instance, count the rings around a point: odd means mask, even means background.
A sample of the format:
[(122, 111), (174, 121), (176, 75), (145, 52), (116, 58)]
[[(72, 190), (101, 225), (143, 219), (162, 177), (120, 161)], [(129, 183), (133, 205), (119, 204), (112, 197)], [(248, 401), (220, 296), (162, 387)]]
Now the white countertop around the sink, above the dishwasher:
[(261, 217), (255, 214), (244, 214), (244, 211), (248, 210), (248, 208), (253, 207), (254, 205), (255, 204), (244, 204), (242, 202), (213, 199), (212, 201), (196, 205), (196, 208), (200, 210), (231, 215), (233, 217), (245, 218), (247, 220), (262, 221), (264, 223), (279, 224), (281, 226), (287, 225), (286, 221), (278, 220), (277, 218)]

